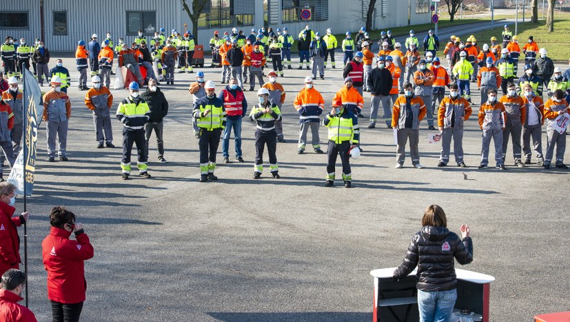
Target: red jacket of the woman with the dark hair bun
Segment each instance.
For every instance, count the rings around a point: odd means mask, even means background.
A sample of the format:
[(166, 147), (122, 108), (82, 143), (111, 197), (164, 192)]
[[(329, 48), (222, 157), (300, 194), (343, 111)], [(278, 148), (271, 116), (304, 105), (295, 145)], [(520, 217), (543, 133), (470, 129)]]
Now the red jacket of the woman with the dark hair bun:
[(85, 301), (87, 281), (83, 261), (93, 257), (93, 246), (83, 230), (78, 232), (73, 241), (69, 239), (71, 232), (52, 227), (41, 243), (50, 301), (64, 304)]

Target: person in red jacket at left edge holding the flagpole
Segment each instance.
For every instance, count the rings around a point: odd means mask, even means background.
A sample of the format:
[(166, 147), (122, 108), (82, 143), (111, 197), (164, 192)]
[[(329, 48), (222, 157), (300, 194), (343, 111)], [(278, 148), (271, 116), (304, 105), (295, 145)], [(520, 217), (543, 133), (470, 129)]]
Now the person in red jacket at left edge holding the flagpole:
[(20, 241), (17, 227), (28, 220), (28, 212), (13, 217), (16, 208), (16, 186), (6, 181), (0, 182), (0, 274), (10, 268), (19, 268)]

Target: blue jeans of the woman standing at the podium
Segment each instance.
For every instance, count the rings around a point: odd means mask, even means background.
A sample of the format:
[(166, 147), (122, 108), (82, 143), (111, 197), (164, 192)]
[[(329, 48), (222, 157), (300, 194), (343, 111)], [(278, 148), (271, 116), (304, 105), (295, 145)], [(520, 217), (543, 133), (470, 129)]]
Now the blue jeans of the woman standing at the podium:
[(454, 311), (457, 290), (424, 292), (418, 290), (420, 322), (449, 322)]

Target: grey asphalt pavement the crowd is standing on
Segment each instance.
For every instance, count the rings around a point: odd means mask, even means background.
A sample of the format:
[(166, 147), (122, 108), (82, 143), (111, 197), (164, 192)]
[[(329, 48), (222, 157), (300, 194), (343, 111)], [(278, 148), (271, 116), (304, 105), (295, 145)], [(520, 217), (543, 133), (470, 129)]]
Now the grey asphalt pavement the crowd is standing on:
[[(340, 53), (336, 59), (341, 60)], [(51, 314), (41, 241), (50, 230), (48, 213), (54, 205), (72, 210), (94, 245), (95, 256), (85, 263), (82, 321), (370, 321), (369, 272), (400, 265), (423, 211), (434, 203), (447, 212), (451, 230), (457, 232), (462, 223), (471, 226), (474, 261), (462, 268), (496, 277), (491, 321), (530, 321), (534, 314), (568, 309), (569, 171), (544, 170), (534, 157), (532, 165), (516, 168), (510, 144), (507, 171), (477, 170), (481, 132), (474, 83), (476, 104), (463, 143), (469, 168), (456, 168), (453, 160), (447, 168), (436, 167), (440, 145), (427, 143), (431, 131), (424, 120), (420, 162), (426, 168), (411, 168), (408, 155), (405, 168), (394, 169), (392, 130), (381, 121), (376, 129), (366, 128), (370, 95), (365, 94), (364, 152), (352, 162), (354, 188), (346, 189), (339, 181), (325, 188), (326, 155), (311, 148), (296, 153), (299, 125), (293, 101), (309, 70), (285, 70), (278, 79), (287, 92), (287, 143), (277, 146), (282, 178), (270, 178), (267, 165), (262, 179), (252, 178), (255, 125), (244, 119), (245, 163), (233, 161), (230, 141), (232, 163), (221, 163), (220, 148), (219, 181), (208, 183), (198, 182), (198, 141), (191, 128), (187, 88), (194, 74), (176, 74), (175, 85), (160, 85), (170, 103), (164, 123), (169, 162), (156, 162), (153, 136), (152, 179), (133, 172), (132, 180), (123, 181), (121, 123), (112, 121), (118, 148), (96, 149), (74, 59), (64, 59), (64, 66), (72, 74), (70, 161), (48, 163), (42, 124), (34, 192), (28, 198), (30, 308), (39, 321)], [(221, 69), (203, 71), (221, 90)], [(340, 68), (328, 68), (325, 80), (315, 81), (326, 110), (342, 77)], [(114, 112), (128, 92), (112, 94)], [(257, 100), (255, 92), (245, 96), (250, 104)], [(326, 150), (327, 131), (321, 127), (319, 132)], [(542, 140), (545, 149), (545, 128)], [(17, 208), (22, 210), (21, 198)]]

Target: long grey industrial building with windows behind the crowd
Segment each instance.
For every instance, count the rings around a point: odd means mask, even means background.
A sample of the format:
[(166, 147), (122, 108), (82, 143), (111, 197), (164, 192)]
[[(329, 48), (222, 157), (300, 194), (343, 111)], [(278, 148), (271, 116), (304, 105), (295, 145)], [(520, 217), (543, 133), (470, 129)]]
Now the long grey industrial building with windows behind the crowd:
[[(192, 8), (192, 0), (187, 0)], [(362, 0), (208, 0), (199, 20), (198, 43), (209, 43), (215, 30), (223, 33), (236, 27), (250, 34), (252, 28), (287, 27), (296, 36), (305, 24), (316, 31), (332, 28), (334, 33), (358, 30), (364, 26), (368, 1)], [(431, 17), (428, 0), (378, 0), (374, 29), (427, 23)], [(309, 20), (301, 10), (311, 11)], [(155, 30), (165, 28), (183, 33), (192, 22), (181, 0), (19, 0), (1, 1), (1, 38), (24, 37), (28, 43), (40, 38), (51, 51), (74, 51), (77, 41), (88, 41), (91, 34), (105, 37), (111, 32), (116, 41), (130, 42), (138, 30), (150, 41)]]

